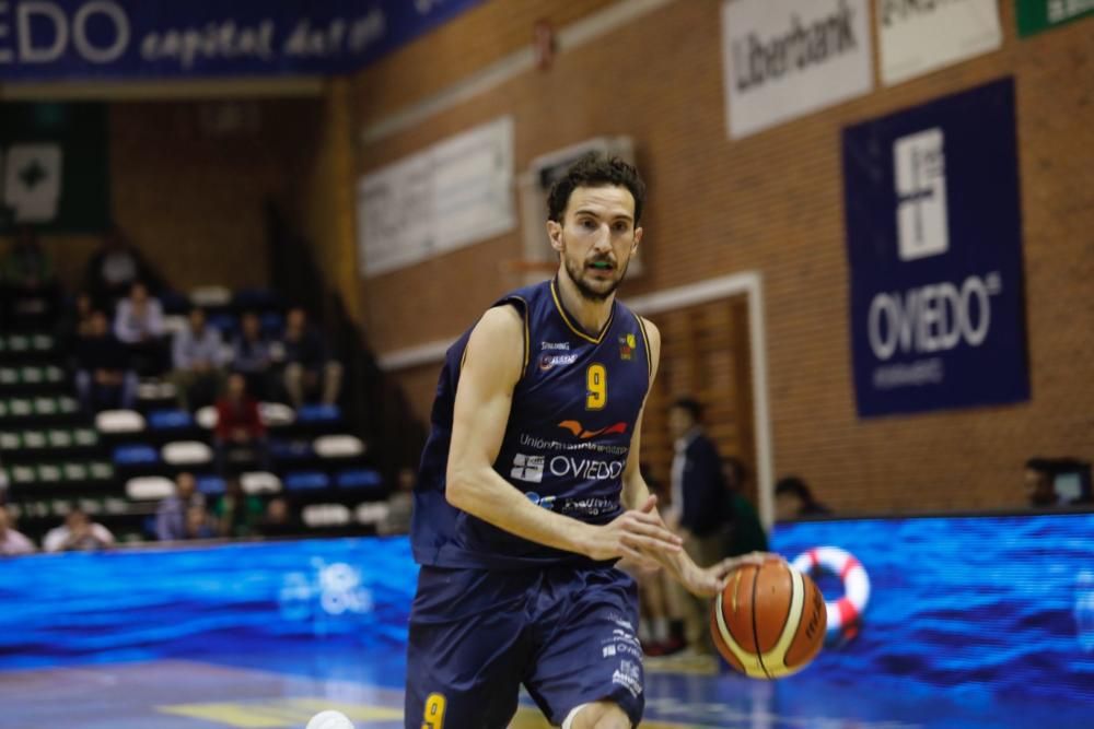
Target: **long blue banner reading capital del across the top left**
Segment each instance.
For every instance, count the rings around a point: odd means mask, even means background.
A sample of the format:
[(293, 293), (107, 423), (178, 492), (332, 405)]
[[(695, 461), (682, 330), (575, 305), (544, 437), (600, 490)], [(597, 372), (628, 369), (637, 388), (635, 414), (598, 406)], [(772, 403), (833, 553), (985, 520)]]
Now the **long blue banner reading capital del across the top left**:
[(346, 73), (481, 0), (13, 0), (0, 80)]

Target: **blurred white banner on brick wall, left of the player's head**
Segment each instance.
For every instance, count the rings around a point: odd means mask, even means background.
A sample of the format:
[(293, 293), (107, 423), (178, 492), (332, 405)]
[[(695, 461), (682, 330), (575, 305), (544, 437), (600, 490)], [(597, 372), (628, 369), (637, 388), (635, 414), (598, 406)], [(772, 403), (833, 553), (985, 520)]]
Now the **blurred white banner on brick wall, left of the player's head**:
[(362, 176), (357, 217), (363, 275), (511, 231), (516, 225), (512, 117)]

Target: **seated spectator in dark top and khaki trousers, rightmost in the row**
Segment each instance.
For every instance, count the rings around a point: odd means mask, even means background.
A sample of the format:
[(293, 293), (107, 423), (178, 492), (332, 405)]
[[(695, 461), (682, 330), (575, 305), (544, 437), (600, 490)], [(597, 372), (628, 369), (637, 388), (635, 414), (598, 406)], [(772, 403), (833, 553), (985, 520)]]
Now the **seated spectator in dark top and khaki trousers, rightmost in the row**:
[(289, 310), (281, 346), (284, 389), (292, 405), (300, 408), (315, 393), (324, 404), (335, 404), (341, 389), (341, 364), (327, 356), (323, 336), (309, 325), (304, 309)]

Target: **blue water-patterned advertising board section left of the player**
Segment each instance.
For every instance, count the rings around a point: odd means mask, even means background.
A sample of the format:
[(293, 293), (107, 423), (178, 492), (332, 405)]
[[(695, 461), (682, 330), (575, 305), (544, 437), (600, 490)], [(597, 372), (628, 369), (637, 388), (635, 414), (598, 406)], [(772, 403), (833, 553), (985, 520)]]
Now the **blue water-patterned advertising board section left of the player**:
[(306, 540), (0, 561), (0, 669), (260, 652), (401, 650), (406, 539)]

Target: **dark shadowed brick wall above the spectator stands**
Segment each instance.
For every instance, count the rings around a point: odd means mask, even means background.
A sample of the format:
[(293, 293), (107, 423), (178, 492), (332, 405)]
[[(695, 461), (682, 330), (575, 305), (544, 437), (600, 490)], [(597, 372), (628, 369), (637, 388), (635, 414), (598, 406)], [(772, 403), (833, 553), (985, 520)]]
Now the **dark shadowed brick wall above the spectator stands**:
[[(245, 102), (235, 131), (220, 131), (220, 104), (115, 103), (109, 111), (114, 219), (182, 291), (200, 284), (267, 283), (263, 205), (295, 195), (290, 171), (301, 140), (315, 133), (318, 105)], [(222, 113), (222, 111), (220, 111)], [(45, 244), (69, 285), (78, 285), (97, 239)]]

